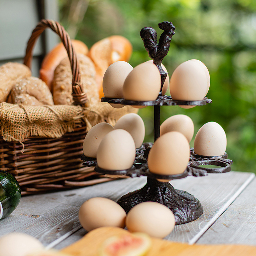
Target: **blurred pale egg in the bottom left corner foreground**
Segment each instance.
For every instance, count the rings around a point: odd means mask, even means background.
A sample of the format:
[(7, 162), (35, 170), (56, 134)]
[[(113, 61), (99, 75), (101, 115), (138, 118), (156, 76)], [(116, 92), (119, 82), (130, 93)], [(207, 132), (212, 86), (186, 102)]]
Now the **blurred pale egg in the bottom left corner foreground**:
[(9, 233), (0, 237), (0, 256), (26, 256), (44, 250), (43, 244), (33, 236)]

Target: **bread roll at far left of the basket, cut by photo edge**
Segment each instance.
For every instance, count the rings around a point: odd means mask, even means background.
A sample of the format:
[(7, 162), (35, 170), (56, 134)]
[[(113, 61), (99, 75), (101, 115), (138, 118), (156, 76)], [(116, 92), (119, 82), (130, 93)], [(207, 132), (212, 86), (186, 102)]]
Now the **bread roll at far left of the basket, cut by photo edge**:
[(12, 86), (20, 79), (31, 76), (30, 69), (18, 62), (8, 62), (0, 67), (0, 102), (6, 101)]

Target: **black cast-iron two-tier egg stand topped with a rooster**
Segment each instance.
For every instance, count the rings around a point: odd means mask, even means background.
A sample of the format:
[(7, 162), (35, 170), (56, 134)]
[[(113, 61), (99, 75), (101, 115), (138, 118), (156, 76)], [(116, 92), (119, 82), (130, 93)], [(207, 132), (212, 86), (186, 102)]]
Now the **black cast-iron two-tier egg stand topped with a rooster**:
[[(162, 95), (162, 88), (167, 76), (167, 73), (162, 69), (161, 63), (169, 51), (170, 42), (174, 35), (175, 27), (171, 22), (161, 22), (158, 24), (159, 28), (164, 30), (159, 38), (159, 43), (156, 40), (156, 31), (153, 28), (142, 28), (140, 36), (144, 42), (145, 49), (148, 55), (153, 59), (154, 64), (161, 74), (161, 90), (156, 100), (152, 101), (133, 101), (125, 100), (124, 98), (105, 98), (101, 99), (102, 102), (124, 105), (139, 105), (139, 106), (154, 106), (154, 139), (160, 137), (160, 106), (203, 106), (212, 100), (204, 97), (203, 100), (185, 101), (173, 100), (171, 96)], [(174, 180), (181, 179), (187, 176), (205, 176), (208, 173), (223, 173), (229, 172), (232, 160), (227, 159), (227, 153), (223, 156), (200, 156), (196, 155), (194, 149), (190, 149), (190, 160), (186, 170), (181, 174), (175, 175), (160, 175), (149, 171), (147, 158), (150, 148), (153, 143), (143, 143), (140, 148), (136, 149), (136, 157), (130, 169), (126, 170), (105, 170), (97, 165), (96, 158), (89, 158), (84, 155), (81, 159), (84, 161), (83, 165), (95, 165), (95, 171), (102, 174), (109, 175), (126, 175), (130, 177), (139, 177), (141, 175), (147, 176), (146, 185), (136, 191), (122, 196), (117, 203), (121, 205), (125, 212), (136, 204), (152, 201), (164, 204), (173, 212), (175, 216), (176, 225), (184, 224), (192, 220), (198, 219), (203, 214), (203, 206), (194, 196), (186, 191), (173, 188), (169, 182), (162, 182), (159, 180)], [(217, 165), (220, 168), (204, 168), (204, 165)]]

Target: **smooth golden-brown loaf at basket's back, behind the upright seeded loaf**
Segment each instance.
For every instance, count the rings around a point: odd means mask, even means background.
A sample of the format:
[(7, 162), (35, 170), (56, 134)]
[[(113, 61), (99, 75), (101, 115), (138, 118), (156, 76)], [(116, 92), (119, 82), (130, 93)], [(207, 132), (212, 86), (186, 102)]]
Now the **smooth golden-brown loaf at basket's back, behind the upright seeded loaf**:
[[(88, 47), (82, 41), (71, 40), (76, 53), (86, 55)], [(60, 61), (68, 57), (67, 50), (62, 43), (57, 44), (45, 57), (40, 69), (40, 78), (48, 85), (52, 91), (52, 80), (54, 77), (54, 70), (60, 64)]]

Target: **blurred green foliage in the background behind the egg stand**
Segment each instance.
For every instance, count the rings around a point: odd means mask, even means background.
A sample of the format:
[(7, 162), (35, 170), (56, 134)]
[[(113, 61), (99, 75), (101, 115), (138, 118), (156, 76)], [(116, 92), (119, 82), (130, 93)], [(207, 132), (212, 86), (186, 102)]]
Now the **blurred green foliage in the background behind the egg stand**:
[[(163, 64), (171, 76), (186, 60), (204, 62), (212, 103), (191, 109), (161, 107), (161, 122), (175, 114), (188, 115), (195, 134), (206, 122), (219, 123), (227, 134), (232, 170), (256, 172), (256, 1), (59, 0), (59, 6), (60, 22), (71, 38), (88, 47), (110, 35), (128, 38), (133, 67), (149, 60), (140, 29), (153, 27), (160, 36), (158, 23), (172, 22), (176, 34)], [(139, 114), (146, 125), (145, 141), (153, 141), (153, 107)]]

